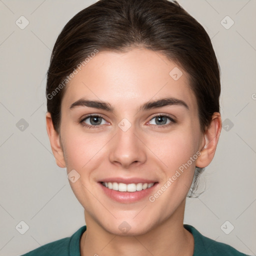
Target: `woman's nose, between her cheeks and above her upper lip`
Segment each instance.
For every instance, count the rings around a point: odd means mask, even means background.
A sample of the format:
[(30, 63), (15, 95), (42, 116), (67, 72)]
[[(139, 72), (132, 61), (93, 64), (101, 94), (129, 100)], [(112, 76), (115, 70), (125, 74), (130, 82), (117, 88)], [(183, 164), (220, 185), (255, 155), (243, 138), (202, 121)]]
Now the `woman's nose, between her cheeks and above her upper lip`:
[(135, 125), (131, 125), (126, 131), (120, 127), (116, 128), (115, 136), (109, 141), (109, 161), (122, 168), (144, 163), (146, 146), (142, 135), (136, 132)]

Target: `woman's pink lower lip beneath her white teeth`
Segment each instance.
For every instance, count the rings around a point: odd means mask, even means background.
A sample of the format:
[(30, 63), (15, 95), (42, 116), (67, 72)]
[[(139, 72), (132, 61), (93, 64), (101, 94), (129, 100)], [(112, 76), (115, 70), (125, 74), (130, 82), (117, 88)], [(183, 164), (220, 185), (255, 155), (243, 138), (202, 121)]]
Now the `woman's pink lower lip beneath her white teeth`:
[(111, 199), (121, 202), (121, 203), (130, 203), (141, 200), (142, 198), (149, 196), (152, 194), (153, 189), (157, 186), (158, 182), (154, 183), (153, 186), (142, 189), (140, 191), (135, 192), (120, 192), (118, 190), (109, 189), (103, 186), (100, 182), (98, 182), (105, 194)]

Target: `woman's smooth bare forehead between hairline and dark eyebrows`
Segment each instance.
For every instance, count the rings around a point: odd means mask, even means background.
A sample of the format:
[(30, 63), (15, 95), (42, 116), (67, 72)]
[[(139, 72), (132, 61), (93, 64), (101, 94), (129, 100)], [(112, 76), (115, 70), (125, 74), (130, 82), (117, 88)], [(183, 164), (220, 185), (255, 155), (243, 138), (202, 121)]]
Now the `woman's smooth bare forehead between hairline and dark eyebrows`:
[(135, 48), (126, 52), (101, 51), (66, 85), (62, 105), (86, 97), (121, 107), (166, 96), (182, 99), (196, 109), (189, 76), (160, 52)]

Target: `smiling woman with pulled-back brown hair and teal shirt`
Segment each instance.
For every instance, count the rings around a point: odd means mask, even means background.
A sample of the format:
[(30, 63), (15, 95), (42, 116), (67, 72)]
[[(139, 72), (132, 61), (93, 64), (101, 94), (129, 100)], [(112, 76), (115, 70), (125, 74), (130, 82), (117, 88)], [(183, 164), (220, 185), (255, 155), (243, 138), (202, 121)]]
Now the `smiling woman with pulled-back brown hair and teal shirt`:
[(177, 2), (77, 13), (52, 51), (46, 125), (86, 226), (24, 255), (245, 255), (183, 224), (216, 150), (219, 94), (210, 39)]

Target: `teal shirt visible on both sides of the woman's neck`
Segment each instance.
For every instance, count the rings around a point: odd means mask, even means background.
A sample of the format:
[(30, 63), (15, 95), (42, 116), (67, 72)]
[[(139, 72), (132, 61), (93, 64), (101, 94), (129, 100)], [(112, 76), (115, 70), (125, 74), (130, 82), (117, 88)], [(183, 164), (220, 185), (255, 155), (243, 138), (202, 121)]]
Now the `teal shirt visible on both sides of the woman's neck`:
[[(203, 236), (193, 226), (184, 224), (184, 228), (194, 237), (193, 256), (248, 256), (222, 242)], [(21, 256), (80, 256), (80, 238), (86, 225), (80, 227), (70, 237), (47, 243)]]

